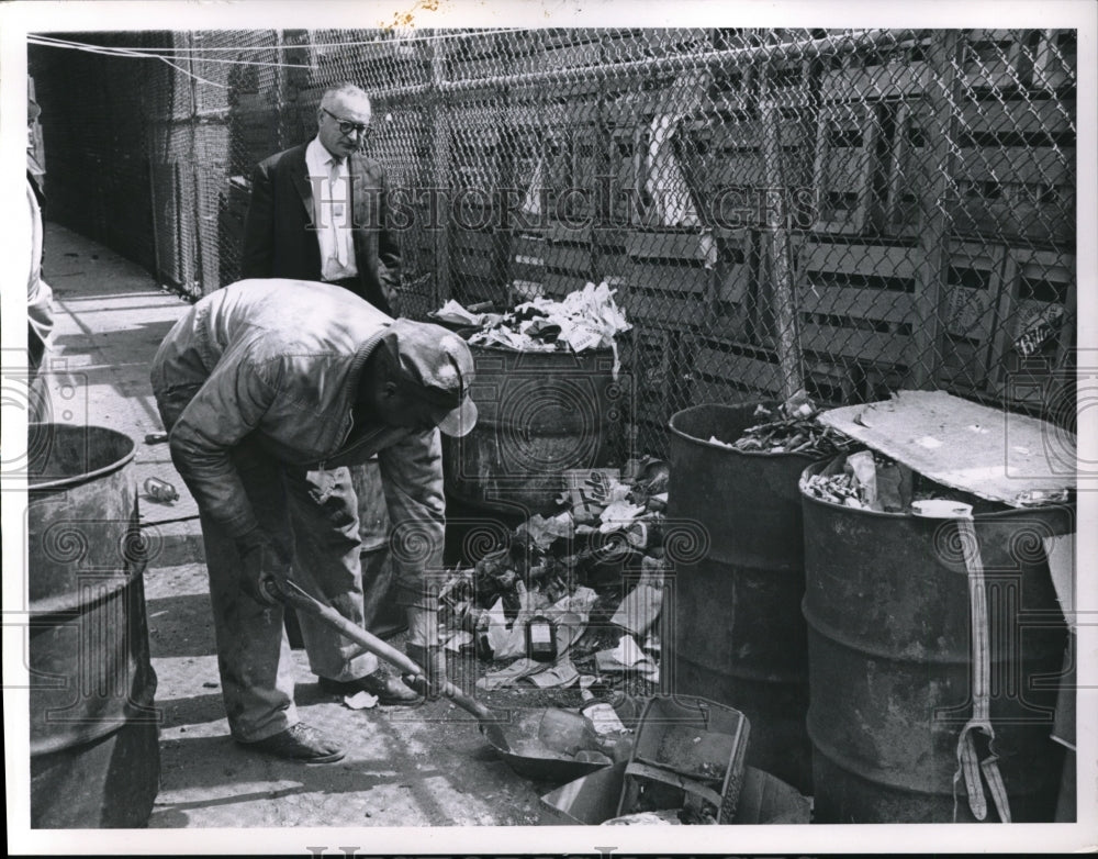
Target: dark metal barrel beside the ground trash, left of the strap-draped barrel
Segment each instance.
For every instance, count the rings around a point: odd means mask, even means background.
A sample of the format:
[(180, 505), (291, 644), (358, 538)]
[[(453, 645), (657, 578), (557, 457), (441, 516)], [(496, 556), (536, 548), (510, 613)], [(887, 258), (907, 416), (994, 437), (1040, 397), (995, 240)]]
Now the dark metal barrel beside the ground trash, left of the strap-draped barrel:
[(671, 419), (668, 531), (701, 526), (704, 556), (673, 559), (673, 692), (736, 707), (751, 722), (747, 761), (811, 793), (805, 714), (797, 480), (813, 457), (733, 450), (757, 404), (697, 405)]

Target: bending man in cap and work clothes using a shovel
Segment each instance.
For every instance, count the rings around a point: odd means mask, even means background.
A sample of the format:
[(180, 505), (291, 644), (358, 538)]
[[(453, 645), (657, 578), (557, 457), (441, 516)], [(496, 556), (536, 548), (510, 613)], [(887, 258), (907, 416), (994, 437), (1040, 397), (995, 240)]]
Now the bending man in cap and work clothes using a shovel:
[[(299, 722), (282, 609), (261, 582), (285, 576), (362, 624), (357, 500), (347, 466), (377, 454), (393, 522), (396, 600), (408, 656), (437, 683), (445, 502), (441, 430), (464, 435), (473, 361), (437, 325), (393, 320), (325, 283), (243, 280), (191, 308), (153, 361), (171, 458), (199, 505), (233, 737), (283, 758), (344, 751)], [(370, 654), (300, 618), (329, 692), (417, 700)]]

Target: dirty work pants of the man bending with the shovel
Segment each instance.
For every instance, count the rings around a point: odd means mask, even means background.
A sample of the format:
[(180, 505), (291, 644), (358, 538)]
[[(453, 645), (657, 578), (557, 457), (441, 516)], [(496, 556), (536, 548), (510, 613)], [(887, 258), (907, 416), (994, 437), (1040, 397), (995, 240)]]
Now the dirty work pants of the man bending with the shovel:
[[(166, 401), (158, 404), (165, 428), (170, 431), (186, 403), (177, 402), (177, 408)], [(235, 448), (233, 464), (265, 534), (287, 554), (293, 553), (293, 580), (361, 626), (359, 521), (349, 470), (282, 466), (250, 442)], [(245, 743), (264, 739), (299, 721), (283, 610), (261, 605), (240, 590), (240, 557), (234, 540), (213, 520), (205, 515), (200, 520), (229, 729)], [(337, 632), (312, 617), (299, 616), (299, 621), (313, 673), (352, 680), (377, 670), (372, 654), (352, 659), (356, 646)]]

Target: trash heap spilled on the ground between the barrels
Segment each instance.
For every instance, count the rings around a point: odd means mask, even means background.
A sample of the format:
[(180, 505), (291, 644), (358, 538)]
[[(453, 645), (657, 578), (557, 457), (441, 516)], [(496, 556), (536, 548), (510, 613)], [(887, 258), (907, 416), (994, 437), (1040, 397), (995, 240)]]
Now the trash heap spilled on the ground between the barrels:
[(559, 513), (447, 577), (444, 642), (491, 662), (479, 689), (658, 681), (668, 478), (651, 458), (568, 470)]

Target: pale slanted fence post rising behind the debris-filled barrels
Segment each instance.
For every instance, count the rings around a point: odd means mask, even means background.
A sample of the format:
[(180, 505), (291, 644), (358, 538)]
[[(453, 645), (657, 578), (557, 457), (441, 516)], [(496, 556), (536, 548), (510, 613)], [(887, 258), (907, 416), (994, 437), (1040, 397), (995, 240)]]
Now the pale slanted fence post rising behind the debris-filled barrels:
[(768, 69), (759, 69), (759, 118), (762, 124), (763, 161), (766, 170), (766, 222), (770, 234), (770, 272), (774, 288), (774, 342), (782, 368), (782, 397), (788, 399), (804, 387), (800, 337), (797, 332), (796, 298), (793, 294), (793, 267), (789, 264), (788, 189), (782, 165), (778, 140), (777, 104), (770, 96)]

